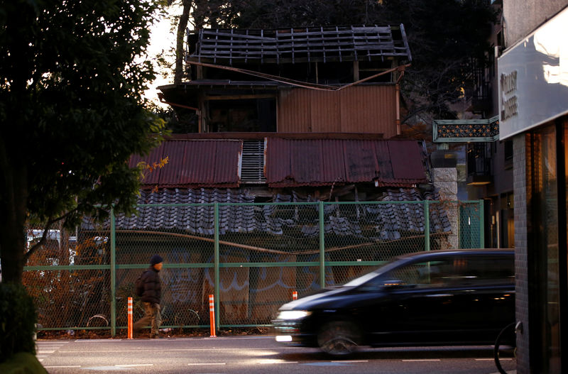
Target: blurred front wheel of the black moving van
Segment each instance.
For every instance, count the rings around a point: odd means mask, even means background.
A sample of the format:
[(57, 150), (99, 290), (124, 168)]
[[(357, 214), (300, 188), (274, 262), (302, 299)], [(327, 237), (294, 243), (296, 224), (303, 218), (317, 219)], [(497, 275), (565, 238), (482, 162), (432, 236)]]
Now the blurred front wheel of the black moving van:
[(317, 334), (317, 345), (332, 356), (346, 356), (357, 350), (361, 334), (349, 321), (332, 321), (324, 324)]

